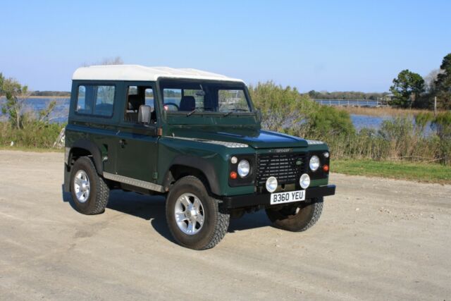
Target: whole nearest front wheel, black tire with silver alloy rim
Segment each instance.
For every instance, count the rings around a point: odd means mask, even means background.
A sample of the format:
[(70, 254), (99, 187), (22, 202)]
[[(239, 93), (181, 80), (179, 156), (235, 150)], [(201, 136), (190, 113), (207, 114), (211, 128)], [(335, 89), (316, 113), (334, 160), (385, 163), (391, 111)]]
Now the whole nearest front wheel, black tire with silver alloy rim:
[(218, 208), (201, 180), (187, 176), (178, 180), (166, 199), (166, 220), (175, 241), (183, 247), (206, 250), (226, 235), (230, 216)]

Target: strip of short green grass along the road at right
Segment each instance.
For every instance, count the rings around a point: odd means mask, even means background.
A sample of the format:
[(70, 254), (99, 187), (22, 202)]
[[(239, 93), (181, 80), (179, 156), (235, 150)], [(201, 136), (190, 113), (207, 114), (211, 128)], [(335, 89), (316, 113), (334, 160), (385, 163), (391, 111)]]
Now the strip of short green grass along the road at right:
[(335, 173), (451, 184), (451, 166), (404, 161), (333, 160)]

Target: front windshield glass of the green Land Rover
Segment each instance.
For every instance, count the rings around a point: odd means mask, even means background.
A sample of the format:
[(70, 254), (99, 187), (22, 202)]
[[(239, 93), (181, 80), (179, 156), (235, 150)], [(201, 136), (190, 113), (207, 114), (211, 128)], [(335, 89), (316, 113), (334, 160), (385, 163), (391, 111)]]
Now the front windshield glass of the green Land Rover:
[(171, 112), (249, 113), (251, 107), (240, 83), (162, 81), (163, 107)]

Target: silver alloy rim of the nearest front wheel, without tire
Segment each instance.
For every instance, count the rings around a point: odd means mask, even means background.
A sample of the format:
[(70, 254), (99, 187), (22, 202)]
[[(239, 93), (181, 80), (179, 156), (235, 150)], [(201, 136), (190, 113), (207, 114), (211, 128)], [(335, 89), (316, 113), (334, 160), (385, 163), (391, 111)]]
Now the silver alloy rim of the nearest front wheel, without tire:
[(198, 233), (204, 225), (204, 207), (199, 197), (192, 193), (178, 197), (174, 214), (178, 228), (187, 235)]

